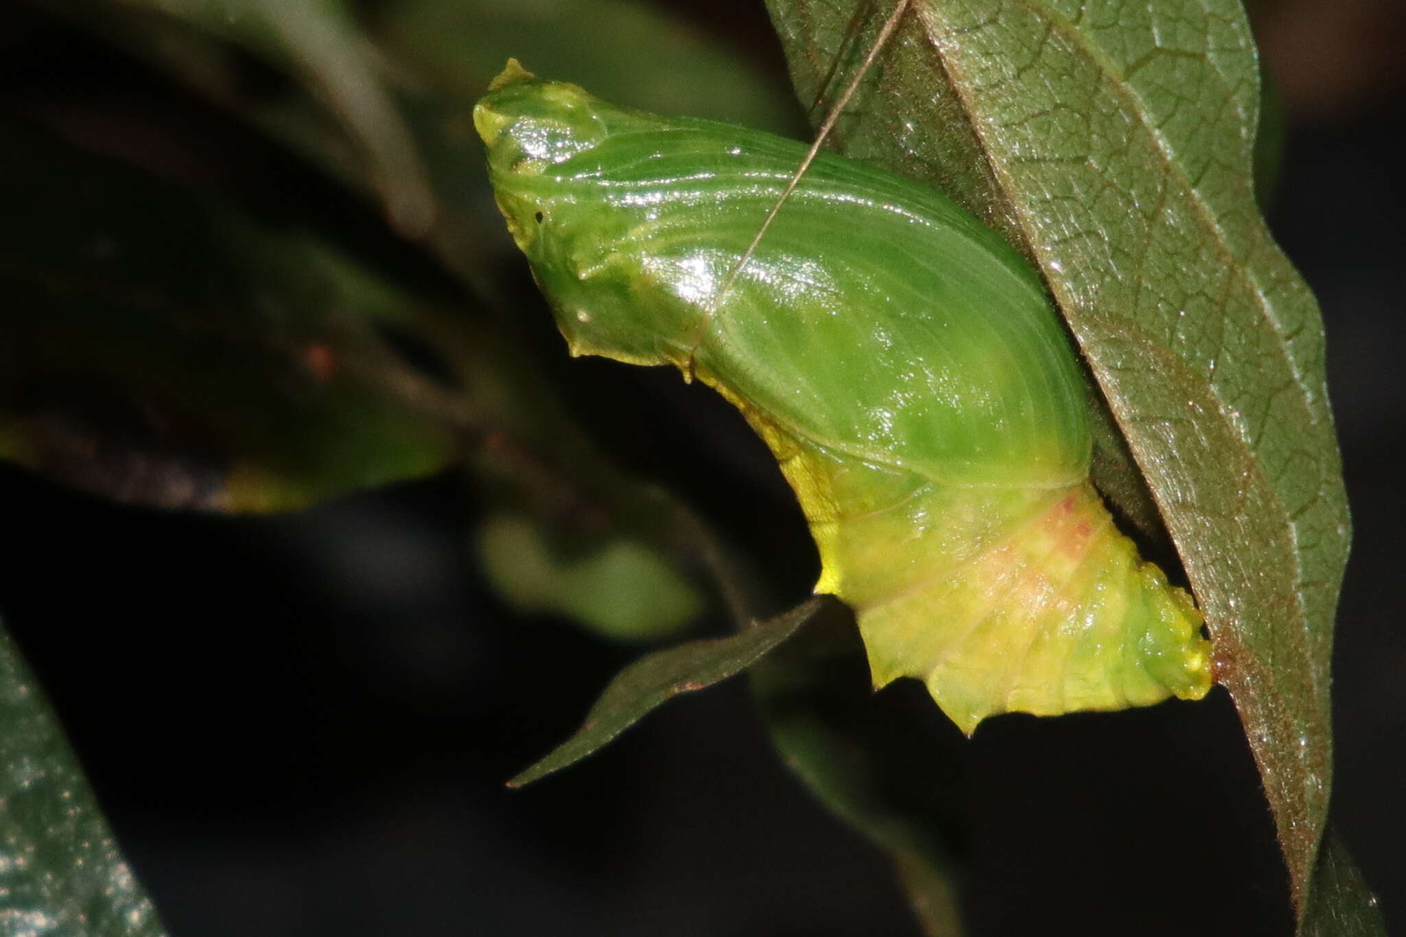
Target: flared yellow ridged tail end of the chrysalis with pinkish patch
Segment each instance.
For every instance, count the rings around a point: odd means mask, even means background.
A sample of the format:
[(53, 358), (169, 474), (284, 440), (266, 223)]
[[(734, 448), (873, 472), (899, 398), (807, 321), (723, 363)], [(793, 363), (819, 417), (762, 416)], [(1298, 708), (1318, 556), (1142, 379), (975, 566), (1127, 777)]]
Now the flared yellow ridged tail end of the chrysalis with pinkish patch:
[[(845, 579), (827, 569), (821, 583), (845, 598)], [(875, 686), (922, 680), (967, 735), (1001, 712), (1126, 709), (1212, 686), (1201, 612), (1088, 483), (980, 555), (855, 610)]]

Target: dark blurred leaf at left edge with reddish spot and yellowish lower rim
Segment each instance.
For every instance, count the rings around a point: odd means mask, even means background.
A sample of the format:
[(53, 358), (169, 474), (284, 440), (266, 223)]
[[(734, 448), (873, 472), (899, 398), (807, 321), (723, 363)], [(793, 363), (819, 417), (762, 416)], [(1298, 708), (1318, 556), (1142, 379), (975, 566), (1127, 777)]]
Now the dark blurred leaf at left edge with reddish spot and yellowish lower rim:
[(378, 334), (425, 301), (302, 232), (0, 138), (0, 457), (117, 500), (271, 510), (456, 454), (458, 403)]

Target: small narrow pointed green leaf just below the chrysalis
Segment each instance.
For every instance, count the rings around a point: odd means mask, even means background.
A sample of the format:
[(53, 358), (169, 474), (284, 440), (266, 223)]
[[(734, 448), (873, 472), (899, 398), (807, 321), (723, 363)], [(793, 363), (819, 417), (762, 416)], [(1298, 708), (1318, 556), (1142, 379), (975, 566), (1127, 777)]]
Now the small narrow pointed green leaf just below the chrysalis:
[(823, 601), (810, 598), (735, 635), (693, 641), (640, 657), (616, 674), (575, 735), (508, 785), (523, 787), (575, 764), (681, 693), (704, 690), (741, 673), (794, 635)]

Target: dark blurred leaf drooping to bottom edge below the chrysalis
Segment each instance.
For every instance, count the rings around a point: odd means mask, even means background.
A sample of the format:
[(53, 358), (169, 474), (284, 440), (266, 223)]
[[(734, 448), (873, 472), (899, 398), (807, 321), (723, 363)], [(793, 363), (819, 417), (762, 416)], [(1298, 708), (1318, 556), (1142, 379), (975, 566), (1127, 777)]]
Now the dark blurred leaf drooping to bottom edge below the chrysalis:
[(830, 812), (889, 853), (928, 937), (965, 933), (948, 843), (959, 798), (934, 739), (879, 712), (853, 622), (817, 621), (748, 671), (772, 743)]

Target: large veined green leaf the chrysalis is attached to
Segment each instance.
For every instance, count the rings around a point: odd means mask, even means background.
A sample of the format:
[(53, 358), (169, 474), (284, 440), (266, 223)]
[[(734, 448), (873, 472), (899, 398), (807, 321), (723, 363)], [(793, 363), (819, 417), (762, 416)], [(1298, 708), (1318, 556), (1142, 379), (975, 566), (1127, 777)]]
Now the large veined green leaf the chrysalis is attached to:
[[(891, 8), (769, 7), (817, 112)], [(1233, 0), (915, 0), (837, 139), (1039, 264), (1206, 612), (1302, 909), (1348, 521), (1317, 306), (1256, 205), (1258, 105)]]

